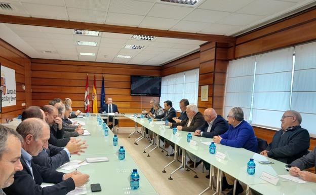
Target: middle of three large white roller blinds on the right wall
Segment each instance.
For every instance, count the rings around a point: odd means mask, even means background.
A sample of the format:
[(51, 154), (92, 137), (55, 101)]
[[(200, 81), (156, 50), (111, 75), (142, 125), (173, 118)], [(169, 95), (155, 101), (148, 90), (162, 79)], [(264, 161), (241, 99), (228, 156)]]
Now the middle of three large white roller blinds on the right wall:
[(294, 48), (257, 56), (252, 124), (280, 127), (290, 108)]

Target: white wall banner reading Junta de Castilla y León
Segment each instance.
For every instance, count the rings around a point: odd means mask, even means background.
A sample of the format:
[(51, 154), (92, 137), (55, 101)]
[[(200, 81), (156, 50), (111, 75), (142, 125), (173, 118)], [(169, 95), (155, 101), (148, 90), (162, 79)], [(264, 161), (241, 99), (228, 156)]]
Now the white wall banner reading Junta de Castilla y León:
[(16, 105), (15, 70), (1, 66), (2, 107)]

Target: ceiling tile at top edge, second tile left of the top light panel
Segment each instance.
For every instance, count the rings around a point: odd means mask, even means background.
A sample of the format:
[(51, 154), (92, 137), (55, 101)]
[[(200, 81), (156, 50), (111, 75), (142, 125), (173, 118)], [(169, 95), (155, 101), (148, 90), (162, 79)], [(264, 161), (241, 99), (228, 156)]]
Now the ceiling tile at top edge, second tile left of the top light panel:
[(107, 11), (109, 0), (65, 0), (66, 7)]

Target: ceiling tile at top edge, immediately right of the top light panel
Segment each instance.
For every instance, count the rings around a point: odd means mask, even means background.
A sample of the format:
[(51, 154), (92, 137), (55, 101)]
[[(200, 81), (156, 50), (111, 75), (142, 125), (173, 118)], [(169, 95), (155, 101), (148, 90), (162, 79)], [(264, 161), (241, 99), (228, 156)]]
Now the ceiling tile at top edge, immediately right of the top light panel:
[(202, 9), (234, 12), (253, 2), (254, 0), (208, 0), (199, 6)]

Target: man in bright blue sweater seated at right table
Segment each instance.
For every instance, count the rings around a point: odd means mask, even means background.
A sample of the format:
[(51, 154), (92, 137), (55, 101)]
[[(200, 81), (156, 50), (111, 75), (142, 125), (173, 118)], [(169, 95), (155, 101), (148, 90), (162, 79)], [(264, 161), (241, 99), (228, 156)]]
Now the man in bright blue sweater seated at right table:
[[(226, 133), (214, 136), (213, 141), (218, 144), (227, 145), (231, 147), (245, 148), (256, 152), (258, 147), (257, 138), (251, 125), (244, 121), (244, 111), (240, 107), (232, 108), (228, 115), (228, 124), (230, 125)], [(226, 174), (226, 181), (229, 185), (233, 185), (235, 178)], [(242, 185), (237, 182), (236, 194), (244, 191)], [(232, 194), (231, 189), (227, 194)]]

